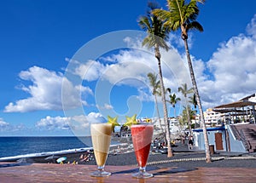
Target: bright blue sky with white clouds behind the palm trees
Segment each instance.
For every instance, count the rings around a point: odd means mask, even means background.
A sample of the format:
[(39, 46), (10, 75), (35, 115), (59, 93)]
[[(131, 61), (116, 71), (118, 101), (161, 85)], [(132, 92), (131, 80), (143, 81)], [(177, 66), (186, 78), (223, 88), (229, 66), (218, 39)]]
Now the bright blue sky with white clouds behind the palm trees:
[[(157, 63), (141, 47), (145, 35), (137, 25), (147, 2), (2, 1), (0, 136), (79, 135), (108, 114), (120, 123), (134, 113), (154, 117), (146, 76)], [(200, 5), (204, 31), (189, 32), (189, 49), (204, 109), (256, 91), (255, 5)], [(177, 88), (189, 83), (187, 60), (179, 32), (170, 38), (171, 49), (162, 51), (164, 82), (182, 97)]]

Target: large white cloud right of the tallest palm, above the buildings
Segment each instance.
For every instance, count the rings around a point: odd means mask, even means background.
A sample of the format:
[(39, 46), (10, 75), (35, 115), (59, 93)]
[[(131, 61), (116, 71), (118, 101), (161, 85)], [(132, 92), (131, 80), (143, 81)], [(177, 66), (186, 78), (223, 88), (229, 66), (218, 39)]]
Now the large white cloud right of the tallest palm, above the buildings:
[(202, 70), (195, 71), (202, 78), (199, 85), (205, 107), (240, 100), (256, 92), (255, 19), (254, 15), (246, 33), (221, 43), (212, 54), (211, 60), (207, 61), (211, 76), (204, 75)]

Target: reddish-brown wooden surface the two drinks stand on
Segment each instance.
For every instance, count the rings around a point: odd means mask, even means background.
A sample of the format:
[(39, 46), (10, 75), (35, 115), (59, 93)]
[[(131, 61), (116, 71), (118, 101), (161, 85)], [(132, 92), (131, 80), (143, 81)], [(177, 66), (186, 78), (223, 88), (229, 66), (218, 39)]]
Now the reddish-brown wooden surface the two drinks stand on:
[(131, 177), (136, 172), (136, 167), (107, 166), (106, 170), (112, 172), (107, 178), (90, 177), (90, 172), (96, 170), (94, 165), (74, 164), (18, 164), (0, 163), (0, 182), (255, 182), (256, 169), (245, 168), (160, 168), (149, 166), (153, 178), (137, 180)]

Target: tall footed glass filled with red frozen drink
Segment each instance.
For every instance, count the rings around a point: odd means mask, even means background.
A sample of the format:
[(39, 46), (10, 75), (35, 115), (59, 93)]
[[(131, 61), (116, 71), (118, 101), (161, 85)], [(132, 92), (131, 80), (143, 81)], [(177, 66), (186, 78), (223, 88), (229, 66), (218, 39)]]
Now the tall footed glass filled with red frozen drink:
[(148, 161), (153, 131), (154, 126), (152, 124), (143, 123), (131, 125), (131, 138), (137, 163), (139, 165), (139, 171), (132, 174), (133, 177), (139, 179), (153, 177), (153, 174), (148, 174), (146, 172), (146, 164)]

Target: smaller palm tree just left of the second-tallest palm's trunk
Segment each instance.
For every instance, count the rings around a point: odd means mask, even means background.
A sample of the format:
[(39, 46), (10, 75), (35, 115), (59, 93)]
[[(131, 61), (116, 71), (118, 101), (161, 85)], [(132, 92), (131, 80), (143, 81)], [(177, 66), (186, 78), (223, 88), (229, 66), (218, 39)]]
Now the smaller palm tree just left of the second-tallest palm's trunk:
[(158, 119), (159, 119), (159, 124), (160, 124), (160, 129), (162, 132), (164, 132), (162, 125), (161, 125), (161, 120), (160, 120), (160, 112), (159, 112), (159, 108), (158, 108), (158, 101), (157, 101), (157, 95), (160, 94), (159, 90), (160, 89), (160, 81), (157, 80), (157, 74), (148, 73), (148, 79), (149, 79), (149, 83), (150, 86), (152, 87), (152, 94), (154, 95), (154, 103), (155, 103), (155, 110), (157, 112), (158, 115)]

